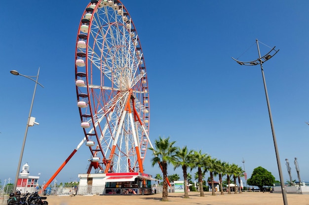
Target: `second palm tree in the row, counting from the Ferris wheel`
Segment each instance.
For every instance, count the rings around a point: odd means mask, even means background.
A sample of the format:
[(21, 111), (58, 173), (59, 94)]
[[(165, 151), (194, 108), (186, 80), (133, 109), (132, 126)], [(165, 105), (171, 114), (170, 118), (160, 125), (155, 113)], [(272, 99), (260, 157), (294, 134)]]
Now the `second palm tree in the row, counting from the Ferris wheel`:
[(176, 163), (174, 164), (174, 170), (181, 166), (183, 169), (183, 175), (184, 175), (184, 181), (185, 181), (185, 198), (189, 198), (189, 193), (188, 193), (188, 187), (187, 187), (187, 182), (188, 182), (188, 174), (187, 174), (187, 167), (191, 167), (193, 165), (192, 161), (192, 155), (193, 150), (188, 151), (187, 146), (180, 148), (176, 150)]

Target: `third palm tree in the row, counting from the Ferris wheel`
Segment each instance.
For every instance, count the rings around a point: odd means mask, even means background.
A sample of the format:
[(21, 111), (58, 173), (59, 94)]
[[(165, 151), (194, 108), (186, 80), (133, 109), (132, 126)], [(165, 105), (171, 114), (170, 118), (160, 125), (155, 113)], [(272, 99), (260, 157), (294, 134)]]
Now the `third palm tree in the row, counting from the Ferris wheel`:
[(203, 175), (205, 174), (202, 172), (202, 167), (205, 166), (205, 159), (208, 157), (207, 154), (202, 154), (202, 151), (194, 151), (192, 155), (192, 166), (191, 170), (193, 168), (197, 167), (197, 173), (198, 173), (198, 186), (199, 186), (199, 191), (200, 191), (200, 196), (204, 196), (204, 190), (203, 190)]

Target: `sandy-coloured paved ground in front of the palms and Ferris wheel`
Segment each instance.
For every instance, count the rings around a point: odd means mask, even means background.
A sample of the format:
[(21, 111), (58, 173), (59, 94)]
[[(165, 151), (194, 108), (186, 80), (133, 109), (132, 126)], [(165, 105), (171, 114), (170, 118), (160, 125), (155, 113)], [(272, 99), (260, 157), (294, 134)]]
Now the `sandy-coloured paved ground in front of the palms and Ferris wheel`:
[[(139, 196), (48, 196), (49, 205), (283, 205), (282, 194), (246, 192), (211, 196), (205, 192), (189, 192), (190, 199), (184, 199), (184, 193), (169, 193), (168, 202), (162, 202), (162, 194)], [(309, 195), (287, 194), (288, 205), (309, 205)]]

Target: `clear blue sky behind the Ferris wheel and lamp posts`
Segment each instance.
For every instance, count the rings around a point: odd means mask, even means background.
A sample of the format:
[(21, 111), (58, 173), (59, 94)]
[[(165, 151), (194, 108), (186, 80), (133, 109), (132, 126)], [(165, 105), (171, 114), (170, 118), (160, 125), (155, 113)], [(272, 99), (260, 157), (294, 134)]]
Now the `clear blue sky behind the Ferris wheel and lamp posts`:
[[(177, 146), (202, 150), (242, 166), (248, 177), (263, 166), (279, 180), (260, 66), (240, 66), (231, 57), (258, 58), (255, 40), (280, 49), (264, 64), (278, 150), (284, 174), (288, 158), (297, 179), (309, 181), (309, 1), (123, 0), (145, 56), (150, 94), (150, 138), (170, 136)], [(23, 163), (47, 181), (83, 136), (75, 88), (77, 28), (87, 0), (1, 2), (0, 180), (14, 180), (34, 82), (39, 82)], [(262, 55), (270, 50), (260, 44)], [(253, 45), (253, 46), (252, 46)], [(249, 48), (249, 49), (248, 49)], [(241, 55), (243, 52), (248, 51)], [(90, 152), (80, 148), (56, 177), (77, 180)], [(152, 168), (147, 153), (145, 172)], [(194, 175), (195, 170), (193, 170)], [(168, 174), (178, 173), (170, 167)], [(206, 176), (208, 177), (208, 175)]]

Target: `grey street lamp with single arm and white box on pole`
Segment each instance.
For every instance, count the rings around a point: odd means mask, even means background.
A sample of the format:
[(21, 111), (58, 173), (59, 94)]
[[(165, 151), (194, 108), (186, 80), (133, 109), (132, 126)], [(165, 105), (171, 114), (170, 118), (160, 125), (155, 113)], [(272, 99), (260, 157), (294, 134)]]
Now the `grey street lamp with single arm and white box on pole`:
[[(29, 116), (28, 116), (28, 122), (27, 122), (27, 125), (26, 125), (26, 131), (25, 131), (24, 141), (23, 141), (23, 145), (22, 145), (22, 147), (21, 147), (19, 162), (18, 162), (17, 171), (16, 171), (16, 176), (15, 176), (15, 182), (14, 182), (14, 187), (13, 187), (13, 192), (15, 193), (15, 192), (16, 192), (16, 188), (17, 188), (18, 177), (19, 177), (20, 165), (21, 165), (21, 161), (22, 161), (22, 159), (23, 159), (23, 154), (24, 154), (24, 148), (25, 148), (25, 143), (26, 143), (26, 138), (27, 138), (27, 133), (28, 133), (28, 127), (29, 127), (29, 124), (30, 124), (30, 121), (31, 121), (31, 112), (32, 112), (33, 102), (34, 102), (34, 100), (35, 100), (37, 85), (39, 84), (41, 87), (44, 87), (44, 86), (41, 85), (41, 84), (38, 82), (38, 80), (39, 80), (39, 70), (38, 70), (38, 75), (37, 75), (37, 76), (25, 76), (25, 75), (22, 75), (22, 74), (18, 73), (18, 71), (15, 71), (15, 70), (10, 71), (10, 73), (13, 74), (13, 75), (15, 75), (15, 76), (23, 76), (23, 77), (26, 77), (27, 79), (30, 79), (30, 80), (36, 82), (35, 90), (34, 90), (34, 92), (33, 92), (33, 97), (32, 97), (32, 101), (31, 101), (30, 112), (29, 112)], [(36, 78), (36, 80), (33, 79), (33, 78)], [(35, 122), (33, 122), (33, 123), (35, 123)], [(39, 124), (39, 123), (36, 123), (36, 124)]]

